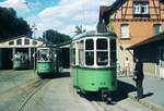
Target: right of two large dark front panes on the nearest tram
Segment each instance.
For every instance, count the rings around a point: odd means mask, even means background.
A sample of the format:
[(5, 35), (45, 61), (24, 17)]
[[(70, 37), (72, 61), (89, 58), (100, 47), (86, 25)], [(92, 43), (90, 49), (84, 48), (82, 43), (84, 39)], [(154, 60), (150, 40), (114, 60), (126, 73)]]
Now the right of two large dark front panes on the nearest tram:
[(97, 53), (97, 65), (108, 64), (108, 50), (107, 50), (107, 39), (96, 40), (96, 53)]

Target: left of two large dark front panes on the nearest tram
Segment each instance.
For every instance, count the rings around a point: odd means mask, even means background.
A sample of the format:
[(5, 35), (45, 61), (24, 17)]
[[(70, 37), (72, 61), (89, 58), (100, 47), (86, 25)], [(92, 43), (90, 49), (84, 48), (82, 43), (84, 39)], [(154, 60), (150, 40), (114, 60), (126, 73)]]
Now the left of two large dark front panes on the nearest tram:
[(85, 64), (94, 65), (94, 42), (93, 39), (85, 40)]

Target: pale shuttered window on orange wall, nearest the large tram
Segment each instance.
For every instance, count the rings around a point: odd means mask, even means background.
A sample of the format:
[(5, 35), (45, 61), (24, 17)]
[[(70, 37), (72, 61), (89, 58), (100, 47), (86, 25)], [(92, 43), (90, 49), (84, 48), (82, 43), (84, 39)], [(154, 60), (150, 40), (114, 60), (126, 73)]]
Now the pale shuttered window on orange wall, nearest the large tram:
[(120, 32), (121, 32), (121, 35), (120, 35), (121, 38), (130, 38), (128, 24), (121, 24), (120, 25)]

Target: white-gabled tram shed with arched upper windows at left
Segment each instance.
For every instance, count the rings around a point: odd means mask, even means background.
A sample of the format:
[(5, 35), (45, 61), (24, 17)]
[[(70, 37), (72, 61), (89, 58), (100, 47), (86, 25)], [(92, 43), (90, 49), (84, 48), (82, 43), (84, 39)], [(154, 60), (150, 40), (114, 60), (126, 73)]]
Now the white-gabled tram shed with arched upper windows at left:
[(43, 44), (43, 41), (33, 39), (25, 35), (0, 41), (0, 70), (12, 69), (12, 59), (16, 52), (26, 53), (28, 69), (33, 67), (33, 53), (35, 52), (35, 49)]

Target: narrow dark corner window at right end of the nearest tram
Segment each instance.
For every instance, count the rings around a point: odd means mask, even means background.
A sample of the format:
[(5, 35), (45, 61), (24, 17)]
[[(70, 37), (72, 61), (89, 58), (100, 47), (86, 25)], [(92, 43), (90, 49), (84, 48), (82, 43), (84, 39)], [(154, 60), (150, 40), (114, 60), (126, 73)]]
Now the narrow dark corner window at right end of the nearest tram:
[(110, 39), (110, 65), (116, 65), (116, 39)]

